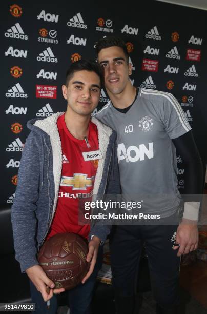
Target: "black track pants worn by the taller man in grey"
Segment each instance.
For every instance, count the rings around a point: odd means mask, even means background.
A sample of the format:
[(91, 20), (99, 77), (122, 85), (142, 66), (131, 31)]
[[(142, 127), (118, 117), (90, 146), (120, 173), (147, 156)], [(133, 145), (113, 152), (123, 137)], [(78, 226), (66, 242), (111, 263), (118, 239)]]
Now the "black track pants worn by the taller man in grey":
[[(112, 283), (115, 289), (117, 314), (133, 313), (137, 273), (143, 244), (146, 247), (151, 286), (157, 303), (168, 309), (179, 303), (178, 277), (180, 258), (173, 250), (179, 224), (178, 213), (172, 225), (117, 225), (110, 239)], [(164, 222), (164, 219), (162, 219)], [(130, 299), (131, 298), (131, 299)], [(126, 309), (125, 309), (125, 300)], [(130, 310), (130, 311), (129, 311)]]

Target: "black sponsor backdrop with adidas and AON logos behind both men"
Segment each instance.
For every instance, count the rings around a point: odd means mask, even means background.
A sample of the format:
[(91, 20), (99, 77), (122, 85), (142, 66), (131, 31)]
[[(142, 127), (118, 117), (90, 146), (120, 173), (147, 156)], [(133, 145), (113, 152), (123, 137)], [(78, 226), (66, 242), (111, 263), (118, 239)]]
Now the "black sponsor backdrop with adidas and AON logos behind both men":
[[(116, 3), (80, 1), (72, 5), (18, 1), (2, 4), (1, 125), (2, 197), (12, 204), (26, 123), (65, 111), (61, 84), (71, 62), (95, 58), (101, 36), (120, 35), (127, 43), (134, 86), (173, 93), (193, 128), (206, 166), (207, 12), (155, 1)], [(163, 13), (164, 12), (164, 13)], [(197, 21), (200, 21), (198, 24)], [(203, 27), (200, 27), (203, 25)], [(99, 108), (108, 102), (101, 90)], [(179, 189), (184, 164), (178, 155)]]

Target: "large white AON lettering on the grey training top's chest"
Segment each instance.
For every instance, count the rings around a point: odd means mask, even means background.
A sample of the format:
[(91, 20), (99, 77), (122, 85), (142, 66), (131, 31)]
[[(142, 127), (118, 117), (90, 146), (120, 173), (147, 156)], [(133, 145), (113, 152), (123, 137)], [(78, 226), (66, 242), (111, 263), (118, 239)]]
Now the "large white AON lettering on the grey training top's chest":
[(129, 163), (139, 160), (142, 161), (146, 157), (151, 159), (154, 157), (153, 142), (148, 144), (148, 148), (144, 144), (140, 144), (139, 147), (132, 145), (127, 149), (125, 144), (121, 143), (118, 144), (117, 154), (118, 163), (120, 163), (121, 160), (125, 160), (127, 163)]

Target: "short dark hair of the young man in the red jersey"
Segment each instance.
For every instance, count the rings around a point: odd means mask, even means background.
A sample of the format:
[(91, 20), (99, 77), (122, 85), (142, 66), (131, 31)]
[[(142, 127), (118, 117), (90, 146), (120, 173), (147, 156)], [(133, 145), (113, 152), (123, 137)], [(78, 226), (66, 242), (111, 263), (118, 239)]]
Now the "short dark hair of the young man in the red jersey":
[(90, 72), (95, 72), (99, 78), (100, 78), (100, 88), (102, 87), (103, 84), (103, 76), (102, 76), (102, 69), (101, 67), (97, 64), (97, 62), (93, 60), (84, 60), (80, 59), (78, 61), (75, 61), (70, 65), (66, 72), (66, 86), (68, 86), (68, 82), (71, 80), (75, 72), (78, 71), (90, 71)]

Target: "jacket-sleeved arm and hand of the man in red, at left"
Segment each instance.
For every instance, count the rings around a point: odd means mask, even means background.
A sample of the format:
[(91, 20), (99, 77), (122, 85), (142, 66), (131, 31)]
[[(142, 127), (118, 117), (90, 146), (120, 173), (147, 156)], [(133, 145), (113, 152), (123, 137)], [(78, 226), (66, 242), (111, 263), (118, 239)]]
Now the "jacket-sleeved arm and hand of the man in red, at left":
[[(37, 261), (37, 219), (35, 215), (36, 202), (40, 187), (39, 147), (36, 136), (28, 136), (23, 149), (18, 171), (18, 185), (12, 206), (12, 227), (16, 259), (22, 271), (25, 271), (43, 299), (48, 301), (53, 293), (65, 289), (52, 289), (54, 283), (50, 280)], [(50, 287), (47, 289), (47, 287)]]

